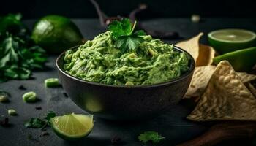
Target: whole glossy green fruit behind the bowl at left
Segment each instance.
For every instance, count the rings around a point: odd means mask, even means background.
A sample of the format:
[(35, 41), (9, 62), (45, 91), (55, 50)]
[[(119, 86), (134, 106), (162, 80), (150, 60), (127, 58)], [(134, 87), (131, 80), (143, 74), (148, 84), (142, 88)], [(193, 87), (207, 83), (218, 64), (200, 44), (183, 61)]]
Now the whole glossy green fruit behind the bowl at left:
[(31, 38), (48, 53), (61, 53), (75, 45), (80, 45), (83, 35), (69, 18), (47, 15), (34, 26)]

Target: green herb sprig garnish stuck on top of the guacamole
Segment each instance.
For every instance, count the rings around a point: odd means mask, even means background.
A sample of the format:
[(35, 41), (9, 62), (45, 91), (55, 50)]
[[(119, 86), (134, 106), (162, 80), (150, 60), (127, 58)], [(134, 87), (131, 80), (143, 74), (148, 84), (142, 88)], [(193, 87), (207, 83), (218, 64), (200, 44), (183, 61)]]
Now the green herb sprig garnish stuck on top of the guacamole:
[(143, 30), (135, 31), (136, 21), (132, 23), (127, 18), (122, 20), (113, 20), (108, 26), (108, 30), (112, 32), (112, 39), (115, 41), (116, 47), (120, 48), (122, 53), (129, 50), (136, 50), (146, 33)]

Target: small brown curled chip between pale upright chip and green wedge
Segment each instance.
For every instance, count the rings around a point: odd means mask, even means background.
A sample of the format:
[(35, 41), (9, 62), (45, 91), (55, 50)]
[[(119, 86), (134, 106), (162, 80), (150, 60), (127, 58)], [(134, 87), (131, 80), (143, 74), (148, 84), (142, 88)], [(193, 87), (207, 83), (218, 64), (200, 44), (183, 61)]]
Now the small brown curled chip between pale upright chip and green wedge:
[(213, 62), (215, 50), (211, 46), (199, 44), (199, 55), (195, 61), (196, 66), (208, 66)]

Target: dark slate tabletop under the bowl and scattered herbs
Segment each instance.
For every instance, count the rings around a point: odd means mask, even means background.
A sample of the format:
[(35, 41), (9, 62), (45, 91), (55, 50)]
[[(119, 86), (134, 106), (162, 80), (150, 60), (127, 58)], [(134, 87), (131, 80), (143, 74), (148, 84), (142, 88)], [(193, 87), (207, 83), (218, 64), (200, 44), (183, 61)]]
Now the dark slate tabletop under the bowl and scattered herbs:
[[(99, 26), (96, 19), (90, 20), (74, 20), (83, 36), (86, 39), (92, 39), (94, 36), (104, 31), (104, 28)], [(25, 21), (29, 26), (32, 26), (34, 20)], [(219, 28), (246, 28), (256, 31), (256, 20), (252, 19), (229, 19), (229, 18), (211, 18), (203, 20), (201, 23), (191, 23), (189, 19), (155, 19), (146, 20), (143, 22), (148, 28), (156, 28), (166, 31), (178, 31), (181, 37), (189, 38), (200, 31), (208, 33)], [(173, 40), (168, 42), (178, 42)], [(203, 37), (202, 42), (206, 43), (206, 37)], [(75, 112), (86, 113), (80, 110), (69, 98), (63, 95), (64, 91), (60, 88), (45, 88), (44, 80), (49, 77), (57, 77), (56, 66), (54, 61), (56, 56), (49, 56), (47, 69), (44, 72), (34, 72), (31, 80), (11, 80), (0, 84), (0, 89), (8, 91), (11, 94), (10, 103), (0, 103), (1, 119), (7, 115), (7, 110), (13, 108), (17, 110), (18, 116), (8, 116), (12, 124), (8, 128), (0, 126), (0, 146), (9, 145), (111, 145), (110, 139), (118, 136), (121, 137), (122, 145), (141, 145), (138, 142), (138, 134), (143, 131), (158, 131), (159, 134), (166, 137), (159, 145), (176, 145), (180, 142), (185, 142), (188, 139), (197, 137), (203, 134), (210, 126), (209, 123), (192, 123), (185, 119), (195, 104), (193, 101), (184, 100), (180, 104), (174, 106), (169, 112), (156, 115), (156, 118), (148, 121), (137, 123), (132, 122), (113, 122), (95, 118), (94, 130), (88, 138), (77, 142), (67, 142), (53, 134), (51, 129), (48, 129), (50, 136), (39, 137), (41, 131), (39, 129), (25, 128), (23, 123), (31, 117), (42, 117), (49, 110), (55, 111), (58, 115)], [(20, 85), (24, 85), (27, 90), (21, 91), (18, 89)], [(35, 91), (40, 99), (34, 104), (25, 104), (22, 100), (23, 93)], [(41, 106), (42, 110), (35, 110), (35, 107)], [(37, 138), (29, 140), (27, 137), (32, 134)], [(244, 144), (243, 141), (241, 143)], [(237, 144), (237, 143), (236, 143)], [(223, 145), (232, 145), (230, 142), (225, 142)]]

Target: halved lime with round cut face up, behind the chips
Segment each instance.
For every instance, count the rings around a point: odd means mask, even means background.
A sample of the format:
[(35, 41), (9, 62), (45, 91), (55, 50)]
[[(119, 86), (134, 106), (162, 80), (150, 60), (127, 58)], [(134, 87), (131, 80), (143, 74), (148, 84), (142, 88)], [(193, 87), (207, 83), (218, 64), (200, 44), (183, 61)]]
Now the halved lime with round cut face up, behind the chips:
[(221, 29), (208, 34), (208, 42), (218, 53), (256, 46), (256, 34), (244, 29)]

